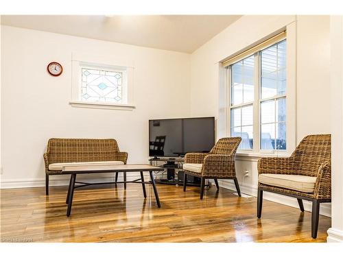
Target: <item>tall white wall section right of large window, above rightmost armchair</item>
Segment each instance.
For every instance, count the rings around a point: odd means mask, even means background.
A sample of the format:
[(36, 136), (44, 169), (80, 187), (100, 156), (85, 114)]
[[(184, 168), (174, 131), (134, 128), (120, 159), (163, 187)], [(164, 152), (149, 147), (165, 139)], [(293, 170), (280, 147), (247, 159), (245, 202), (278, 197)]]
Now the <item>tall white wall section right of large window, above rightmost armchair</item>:
[(297, 137), (331, 133), (330, 16), (297, 17)]

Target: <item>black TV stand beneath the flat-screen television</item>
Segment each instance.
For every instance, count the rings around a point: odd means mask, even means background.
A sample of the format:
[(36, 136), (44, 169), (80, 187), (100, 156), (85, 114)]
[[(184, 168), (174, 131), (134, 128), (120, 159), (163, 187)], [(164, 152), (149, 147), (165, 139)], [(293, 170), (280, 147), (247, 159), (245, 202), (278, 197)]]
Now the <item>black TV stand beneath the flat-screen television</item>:
[[(182, 164), (185, 162), (185, 158), (182, 157), (154, 157), (149, 160), (150, 165), (165, 168), (163, 171), (162, 178), (156, 178), (155, 182), (158, 184), (172, 184), (182, 185), (183, 184), (183, 171)], [(158, 174), (156, 174), (158, 175)], [(157, 177), (157, 176), (156, 176)], [(200, 179), (187, 176), (187, 185), (189, 186), (200, 186)]]

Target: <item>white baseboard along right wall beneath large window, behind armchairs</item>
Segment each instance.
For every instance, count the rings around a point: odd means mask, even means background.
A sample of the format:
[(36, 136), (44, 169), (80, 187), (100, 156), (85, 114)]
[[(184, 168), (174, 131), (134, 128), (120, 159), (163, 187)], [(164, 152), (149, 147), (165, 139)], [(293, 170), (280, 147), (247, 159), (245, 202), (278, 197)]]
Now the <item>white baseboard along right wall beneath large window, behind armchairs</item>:
[[(224, 188), (228, 188), (230, 190), (236, 191), (235, 184), (230, 180), (218, 180), (218, 183), (220, 186)], [(257, 197), (257, 186), (239, 184), (239, 188), (241, 188), (241, 193)], [(296, 200), (296, 198), (293, 198), (293, 197), (287, 197), (285, 195), (279, 195), (279, 194), (270, 193), (270, 192), (263, 192), (263, 199), (274, 201), (278, 204), (284, 204), (286, 206), (299, 208), (298, 201)], [(311, 212), (312, 211), (311, 202), (304, 200), (303, 203), (304, 203), (305, 210), (308, 212)], [(320, 204), (319, 213), (320, 215), (331, 217), (331, 203)]]

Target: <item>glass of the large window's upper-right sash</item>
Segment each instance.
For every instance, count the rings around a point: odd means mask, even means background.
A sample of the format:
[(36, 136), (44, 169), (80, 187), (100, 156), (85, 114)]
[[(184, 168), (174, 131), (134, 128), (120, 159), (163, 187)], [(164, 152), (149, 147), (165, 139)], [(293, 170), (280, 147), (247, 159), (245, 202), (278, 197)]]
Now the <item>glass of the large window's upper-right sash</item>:
[(261, 51), (261, 99), (286, 93), (286, 41)]

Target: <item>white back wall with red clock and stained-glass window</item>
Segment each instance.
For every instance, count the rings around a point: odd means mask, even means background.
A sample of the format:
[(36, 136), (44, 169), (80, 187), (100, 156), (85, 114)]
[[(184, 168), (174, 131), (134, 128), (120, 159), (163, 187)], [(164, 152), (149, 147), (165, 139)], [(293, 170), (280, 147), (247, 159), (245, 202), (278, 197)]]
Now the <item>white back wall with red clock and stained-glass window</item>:
[[(137, 108), (71, 107), (71, 53), (75, 51), (133, 62)], [(189, 117), (187, 53), (8, 26), (1, 27), (1, 52), (3, 186), (44, 185), (43, 153), (51, 137), (116, 138), (119, 148), (128, 151), (129, 163), (146, 163), (148, 119)], [(60, 77), (46, 71), (53, 60), (64, 67)], [(60, 179), (51, 176), (51, 184)]]

